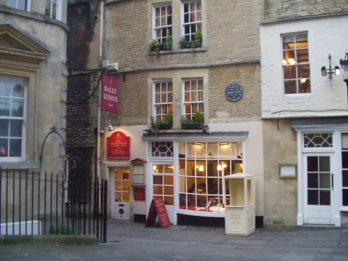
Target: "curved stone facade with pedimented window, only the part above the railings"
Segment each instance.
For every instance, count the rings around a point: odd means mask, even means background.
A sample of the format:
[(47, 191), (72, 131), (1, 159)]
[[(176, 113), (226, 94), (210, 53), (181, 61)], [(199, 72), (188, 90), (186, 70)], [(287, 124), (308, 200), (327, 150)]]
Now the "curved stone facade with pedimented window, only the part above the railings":
[[(56, 1), (53, 10), (45, 9), (46, 2), (50, 1), (0, 1), (2, 168), (57, 173), (65, 166), (65, 148), (58, 136), (49, 137), (42, 150), (52, 126), (63, 139), (66, 127), (67, 2)], [(11, 97), (8, 88), (17, 94)], [(12, 104), (10, 111), (6, 104)]]

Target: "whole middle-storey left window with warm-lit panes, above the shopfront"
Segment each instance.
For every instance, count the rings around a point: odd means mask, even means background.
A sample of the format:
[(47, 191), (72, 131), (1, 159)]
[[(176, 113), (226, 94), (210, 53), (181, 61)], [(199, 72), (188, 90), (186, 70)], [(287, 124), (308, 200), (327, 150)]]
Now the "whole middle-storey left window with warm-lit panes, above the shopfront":
[(154, 81), (153, 116), (157, 122), (168, 120), (168, 113), (173, 113), (173, 81)]

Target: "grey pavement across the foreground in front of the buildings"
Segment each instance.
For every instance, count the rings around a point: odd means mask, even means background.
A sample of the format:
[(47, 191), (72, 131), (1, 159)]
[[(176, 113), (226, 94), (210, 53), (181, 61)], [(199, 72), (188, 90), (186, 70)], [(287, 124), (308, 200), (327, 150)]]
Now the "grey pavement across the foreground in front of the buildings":
[(107, 230), (106, 244), (0, 244), (0, 260), (348, 260), (347, 228), (257, 228), (239, 237), (226, 235), (225, 228), (145, 228), (111, 220)]

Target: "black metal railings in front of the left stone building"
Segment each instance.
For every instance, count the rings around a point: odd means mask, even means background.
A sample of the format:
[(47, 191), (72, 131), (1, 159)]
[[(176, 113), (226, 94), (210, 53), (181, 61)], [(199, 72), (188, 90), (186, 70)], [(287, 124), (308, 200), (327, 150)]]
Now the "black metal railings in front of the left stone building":
[(107, 180), (1, 169), (0, 235), (96, 235), (106, 243)]

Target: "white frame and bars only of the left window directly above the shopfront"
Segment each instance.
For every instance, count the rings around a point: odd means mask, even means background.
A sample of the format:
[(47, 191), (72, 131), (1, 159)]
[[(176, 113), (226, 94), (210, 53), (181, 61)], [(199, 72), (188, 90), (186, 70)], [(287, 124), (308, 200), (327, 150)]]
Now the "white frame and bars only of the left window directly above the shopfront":
[[(171, 83), (171, 92), (168, 92), (168, 84)], [(156, 101), (156, 95), (157, 95), (157, 92), (156, 92), (156, 85), (157, 84), (166, 84), (166, 91), (165, 92), (162, 92), (160, 91), (158, 94), (160, 95), (160, 97), (162, 97), (162, 95), (165, 95), (166, 96), (166, 101), (162, 102), (162, 101), (159, 101), (157, 102)], [(161, 80), (155, 80), (155, 81), (152, 81), (152, 104), (153, 104), (153, 109), (152, 109), (152, 116), (154, 116), (155, 120), (159, 121), (159, 120), (166, 120), (166, 115), (168, 113), (173, 113), (173, 81), (172, 79), (161, 79)], [(161, 87), (162, 88), (162, 87)], [(168, 102), (168, 98), (169, 98), (169, 95), (171, 94), (171, 102)], [(157, 108), (160, 108), (160, 113), (157, 112)], [(163, 111), (164, 107), (166, 107), (166, 112)], [(172, 110), (171, 110), (171, 107), (172, 107)]]

